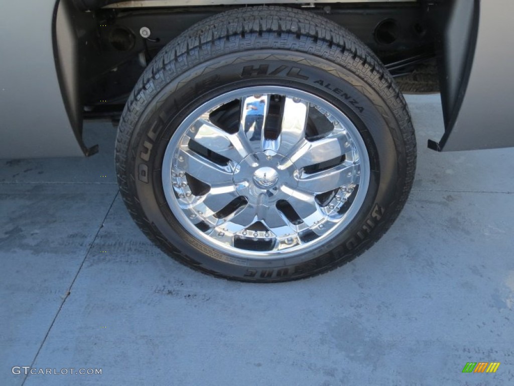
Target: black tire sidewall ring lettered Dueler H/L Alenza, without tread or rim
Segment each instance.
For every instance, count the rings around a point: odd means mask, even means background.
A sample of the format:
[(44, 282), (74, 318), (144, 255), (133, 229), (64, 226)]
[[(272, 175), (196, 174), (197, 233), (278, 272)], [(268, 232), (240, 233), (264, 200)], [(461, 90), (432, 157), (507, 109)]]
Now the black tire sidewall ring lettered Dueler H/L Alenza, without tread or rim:
[[(406, 150), (399, 123), (374, 89), (369, 74), (359, 76), (342, 65), (307, 54), (280, 50), (272, 54), (270, 58), (270, 52), (237, 52), (195, 65), (146, 102), (132, 134), (129, 148), (135, 152), (127, 170), (151, 232), (176, 258), (214, 275), (283, 280), (339, 265), (381, 236), (405, 184)], [(286, 259), (248, 260), (208, 247), (183, 229), (167, 205), (162, 187), (164, 152), (183, 119), (218, 95), (258, 85), (292, 87), (334, 104), (359, 130), (370, 159), (370, 186), (350, 225), (315, 251)]]

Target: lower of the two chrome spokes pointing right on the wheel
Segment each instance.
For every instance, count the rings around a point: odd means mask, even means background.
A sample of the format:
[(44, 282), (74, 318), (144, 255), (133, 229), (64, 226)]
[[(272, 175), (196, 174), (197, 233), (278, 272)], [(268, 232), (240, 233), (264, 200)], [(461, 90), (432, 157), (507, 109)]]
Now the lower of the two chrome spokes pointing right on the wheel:
[(353, 182), (356, 171), (357, 165), (342, 163), (332, 169), (313, 174), (301, 173), (298, 187), (314, 194), (324, 193)]

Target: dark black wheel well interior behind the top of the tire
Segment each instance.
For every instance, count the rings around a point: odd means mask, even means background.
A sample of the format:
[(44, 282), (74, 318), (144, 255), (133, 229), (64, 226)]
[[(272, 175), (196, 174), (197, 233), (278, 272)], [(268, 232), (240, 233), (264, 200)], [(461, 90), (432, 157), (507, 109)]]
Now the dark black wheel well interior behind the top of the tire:
[[(97, 8), (108, 1), (76, 0), (80, 101), (84, 118), (117, 119), (157, 52), (200, 20), (237, 6)], [(110, 2), (113, 3), (113, 2)], [(353, 32), (393, 76), (435, 57), (435, 33), (424, 3), (324, 3), (293, 8), (323, 15)]]

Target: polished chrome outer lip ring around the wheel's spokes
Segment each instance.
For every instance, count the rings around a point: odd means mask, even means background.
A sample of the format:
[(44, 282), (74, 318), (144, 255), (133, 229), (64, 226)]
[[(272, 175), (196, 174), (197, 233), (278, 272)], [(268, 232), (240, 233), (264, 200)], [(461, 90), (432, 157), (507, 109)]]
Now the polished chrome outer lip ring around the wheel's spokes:
[[(172, 179), (172, 170), (173, 170), (173, 162), (177, 159), (177, 149), (180, 146), (180, 144), (184, 141), (185, 133), (192, 127), (192, 125), (200, 118), (201, 115), (205, 114), (206, 112), (218, 108), (220, 106), (223, 106), (223, 104), (228, 103), (234, 99), (238, 98), (245, 98), (251, 95), (256, 94), (262, 94), (262, 95), (272, 95), (272, 94), (278, 94), (278, 95), (284, 95), (287, 97), (291, 97), (293, 99), (300, 99), (302, 101), (309, 102), (311, 106), (315, 105), (316, 108), (320, 108), (320, 111), (328, 112), (329, 115), (334, 119), (334, 121), (339, 122), (339, 125), (344, 127), (344, 129), (347, 132), (347, 136), (351, 138), (351, 146), (355, 150), (355, 153), (357, 154), (357, 160), (359, 165), (359, 173), (360, 176), (358, 178), (358, 190), (357, 194), (355, 195), (353, 202), (350, 205), (350, 208), (344, 213), (344, 215), (337, 221), (337, 223), (331, 227), (328, 231), (326, 231), (322, 236), (319, 236), (313, 241), (301, 243), (298, 245), (293, 245), (292, 247), (288, 247), (287, 239), (285, 243), (277, 245), (277, 247), (274, 247), (270, 251), (255, 251), (255, 250), (248, 250), (248, 249), (242, 249), (242, 248), (236, 248), (232, 245), (227, 245), (223, 241), (219, 241), (218, 239), (210, 236), (209, 234), (206, 234), (198, 229), (192, 222), (192, 217), (194, 214), (189, 214), (184, 209), (183, 205), (180, 204), (179, 199), (177, 198), (174, 192), (174, 185), (173, 185), (173, 179)], [(242, 128), (240, 128), (240, 131)], [(283, 129), (284, 130), (284, 129)], [(345, 144), (345, 146), (347, 143)], [(262, 147), (260, 149), (260, 152), (263, 154), (270, 153), (273, 154), (273, 150), (276, 149), (268, 149), (266, 150), (266, 139), (262, 140)], [(255, 151), (257, 152), (257, 151)], [(279, 154), (280, 155), (280, 154)], [(284, 157), (285, 158), (285, 157)], [(292, 158), (292, 157), (291, 157)], [(297, 160), (289, 160), (292, 164), (297, 162)], [(286, 161), (284, 161), (286, 163)], [(280, 167), (279, 167), (280, 168)], [(298, 171), (298, 169), (297, 169)], [(348, 224), (355, 218), (357, 213), (359, 212), (364, 199), (366, 197), (366, 194), (368, 192), (369, 183), (370, 183), (370, 176), (371, 176), (371, 170), (370, 170), (370, 162), (369, 162), (369, 156), (368, 152), (366, 150), (365, 144), (363, 142), (363, 139), (357, 130), (356, 126), (353, 124), (353, 122), (348, 118), (341, 110), (337, 109), (332, 103), (326, 101), (325, 99), (322, 99), (319, 96), (316, 96), (314, 94), (308, 93), (306, 91), (302, 91), (299, 89), (294, 89), (291, 87), (284, 87), (284, 86), (253, 86), (253, 87), (245, 87), (243, 89), (237, 89), (234, 91), (230, 91), (227, 93), (224, 93), (222, 95), (219, 95), (204, 104), (202, 104), (200, 107), (196, 108), (191, 114), (188, 115), (186, 119), (184, 119), (181, 124), (178, 126), (176, 131), (173, 133), (170, 142), (168, 143), (168, 146), (166, 148), (166, 151), (164, 153), (163, 157), (163, 164), (162, 164), (162, 183), (163, 183), (163, 190), (164, 195), (166, 197), (167, 203), (174, 214), (174, 216), (177, 218), (181, 226), (192, 236), (195, 238), (203, 241), (205, 244), (207, 244), (209, 247), (217, 250), (218, 252), (221, 252), (225, 255), (230, 255), (235, 258), (243, 258), (243, 259), (255, 259), (255, 260), (263, 260), (263, 259), (285, 259), (289, 257), (295, 257), (300, 254), (304, 254), (307, 252), (311, 252), (315, 249), (319, 249), (322, 244), (327, 243), (328, 241), (334, 239), (341, 231), (343, 231)], [(248, 176), (247, 180), (253, 181), (254, 176)], [(234, 186), (236, 182), (234, 180)], [(270, 187), (272, 188), (275, 183), (272, 183)], [(256, 182), (253, 183), (253, 186), (257, 186), (258, 184)], [(259, 188), (266, 189), (266, 186), (258, 186)], [(281, 188), (281, 194), (284, 196), (281, 197), (287, 197), (287, 195), (291, 194), (290, 187)], [(201, 212), (198, 212), (201, 214)], [(320, 224), (319, 227), (321, 228), (323, 225)], [(217, 230), (215, 229), (217, 232)], [(248, 237), (252, 236), (252, 232), (254, 231), (248, 231)], [(222, 231), (219, 231), (218, 234), (223, 234)], [(246, 234), (245, 231), (243, 231), (243, 234)], [(259, 234), (259, 236), (258, 236)], [(260, 233), (256, 232), (254, 233), (255, 237), (260, 237)], [(266, 232), (264, 235), (269, 235), (269, 232)]]

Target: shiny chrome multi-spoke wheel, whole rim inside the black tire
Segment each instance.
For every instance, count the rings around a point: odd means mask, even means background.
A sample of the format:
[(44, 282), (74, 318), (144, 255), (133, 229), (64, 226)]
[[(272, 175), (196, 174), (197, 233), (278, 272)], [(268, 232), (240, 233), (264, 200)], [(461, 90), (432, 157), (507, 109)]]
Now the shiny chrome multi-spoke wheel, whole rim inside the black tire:
[(317, 249), (359, 211), (370, 180), (352, 121), (316, 95), (248, 87), (202, 104), (164, 153), (168, 205), (219, 252), (285, 258)]

